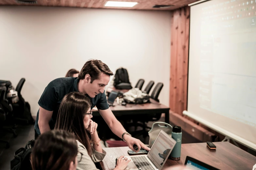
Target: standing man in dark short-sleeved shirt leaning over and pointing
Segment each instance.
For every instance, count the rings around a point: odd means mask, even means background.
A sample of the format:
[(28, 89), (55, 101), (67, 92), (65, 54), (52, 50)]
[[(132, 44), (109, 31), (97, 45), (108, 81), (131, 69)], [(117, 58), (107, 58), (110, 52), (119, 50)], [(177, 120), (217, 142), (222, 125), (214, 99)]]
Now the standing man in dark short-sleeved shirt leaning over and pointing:
[(105, 94), (105, 86), (110, 81), (110, 76), (113, 73), (107, 66), (100, 60), (87, 61), (77, 78), (57, 78), (51, 81), (38, 101), (39, 110), (37, 112), (35, 123), (35, 138), (38, 135), (54, 129), (56, 118), (59, 110), (60, 103), (63, 97), (70, 92), (81, 92), (86, 94), (91, 99), (92, 107), (97, 107), (100, 115), (106, 121), (111, 131), (126, 141), (128, 147), (133, 149), (133, 145), (138, 146), (138, 152), (141, 148), (150, 150), (140, 140), (132, 137), (122, 124), (115, 118)]

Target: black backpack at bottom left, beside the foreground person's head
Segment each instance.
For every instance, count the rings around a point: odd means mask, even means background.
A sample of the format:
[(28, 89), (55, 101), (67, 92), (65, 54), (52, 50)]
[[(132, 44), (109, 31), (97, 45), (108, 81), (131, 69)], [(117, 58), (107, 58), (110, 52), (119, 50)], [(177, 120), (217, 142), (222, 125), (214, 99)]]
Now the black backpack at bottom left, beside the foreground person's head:
[(11, 160), (11, 170), (32, 170), (30, 154), (36, 140), (27, 142), (25, 148), (20, 148), (14, 152), (14, 158)]

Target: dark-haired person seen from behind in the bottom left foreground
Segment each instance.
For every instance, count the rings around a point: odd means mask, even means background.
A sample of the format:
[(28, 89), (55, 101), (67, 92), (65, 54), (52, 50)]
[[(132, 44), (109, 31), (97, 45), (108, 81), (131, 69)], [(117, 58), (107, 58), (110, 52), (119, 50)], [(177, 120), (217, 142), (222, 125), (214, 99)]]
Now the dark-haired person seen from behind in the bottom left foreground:
[(76, 170), (75, 136), (63, 130), (43, 133), (34, 145), (30, 160), (33, 170)]

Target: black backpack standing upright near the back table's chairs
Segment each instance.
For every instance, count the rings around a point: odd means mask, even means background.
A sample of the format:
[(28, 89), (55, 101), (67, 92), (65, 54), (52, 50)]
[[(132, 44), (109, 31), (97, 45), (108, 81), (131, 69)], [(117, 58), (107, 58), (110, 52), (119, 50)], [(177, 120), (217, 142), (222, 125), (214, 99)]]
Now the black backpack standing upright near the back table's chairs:
[(129, 75), (127, 69), (118, 68), (115, 72), (114, 87), (116, 89), (131, 89), (131, 83), (129, 81)]

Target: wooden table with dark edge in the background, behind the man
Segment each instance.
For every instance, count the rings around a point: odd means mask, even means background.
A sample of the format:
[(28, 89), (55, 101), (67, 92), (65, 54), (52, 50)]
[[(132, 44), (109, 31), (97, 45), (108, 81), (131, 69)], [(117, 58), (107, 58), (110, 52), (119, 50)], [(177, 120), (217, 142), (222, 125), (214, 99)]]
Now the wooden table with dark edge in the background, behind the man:
[[(146, 114), (165, 114), (165, 122), (169, 123), (169, 110), (170, 107), (162, 105), (157, 101), (150, 99), (150, 103), (144, 104), (127, 104), (126, 106), (117, 105), (110, 106), (111, 111), (115, 115), (115, 117), (123, 116), (123, 115), (146, 115)], [(100, 116), (97, 110), (92, 110), (93, 116), (97, 117)]]

